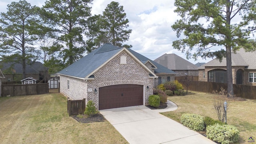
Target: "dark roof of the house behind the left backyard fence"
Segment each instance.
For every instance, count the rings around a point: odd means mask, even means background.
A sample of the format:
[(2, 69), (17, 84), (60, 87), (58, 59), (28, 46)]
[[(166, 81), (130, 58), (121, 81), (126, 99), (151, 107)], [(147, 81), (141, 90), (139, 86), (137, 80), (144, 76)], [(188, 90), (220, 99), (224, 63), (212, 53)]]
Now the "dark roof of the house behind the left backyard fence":
[[(2, 70), (6, 70), (12, 67), (12, 73), (22, 74), (22, 64), (15, 62), (0, 62), (2, 65)], [(26, 74), (38, 74), (40, 71), (47, 70), (48, 68), (44, 66), (41, 62), (32, 62), (32, 64), (26, 64)]]

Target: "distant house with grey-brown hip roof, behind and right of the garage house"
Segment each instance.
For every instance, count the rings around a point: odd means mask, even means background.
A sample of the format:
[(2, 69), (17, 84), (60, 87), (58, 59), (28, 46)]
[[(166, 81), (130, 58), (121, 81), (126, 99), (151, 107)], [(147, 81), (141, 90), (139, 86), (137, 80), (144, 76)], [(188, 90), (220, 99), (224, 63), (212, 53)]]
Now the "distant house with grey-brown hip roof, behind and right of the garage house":
[(178, 73), (176, 76), (198, 76), (197, 66), (176, 54), (164, 54), (154, 61)]

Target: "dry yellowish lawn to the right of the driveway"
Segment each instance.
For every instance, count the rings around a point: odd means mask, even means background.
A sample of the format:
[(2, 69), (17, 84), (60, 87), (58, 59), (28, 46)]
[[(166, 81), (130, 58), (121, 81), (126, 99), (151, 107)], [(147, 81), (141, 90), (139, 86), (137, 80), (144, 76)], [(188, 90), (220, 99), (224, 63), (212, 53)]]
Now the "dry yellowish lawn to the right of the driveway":
[[(178, 105), (178, 109), (171, 112), (164, 112), (163, 115), (180, 122), (180, 116), (184, 113), (200, 114), (210, 116), (218, 120), (218, 116), (213, 106), (215, 94), (206, 94), (203, 92), (193, 92), (195, 94), (187, 96), (168, 96)], [(227, 110), (227, 124), (238, 128), (239, 144), (247, 144), (248, 138), (256, 139), (256, 100), (245, 100), (242, 98), (230, 98)]]

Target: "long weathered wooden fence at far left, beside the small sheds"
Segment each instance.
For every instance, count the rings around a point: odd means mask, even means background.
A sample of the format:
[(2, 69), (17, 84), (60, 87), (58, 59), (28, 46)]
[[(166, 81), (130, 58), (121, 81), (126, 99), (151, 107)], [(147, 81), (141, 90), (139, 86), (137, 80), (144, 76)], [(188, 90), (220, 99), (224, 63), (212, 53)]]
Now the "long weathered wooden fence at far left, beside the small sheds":
[(1, 86), (1, 96), (25, 96), (32, 94), (48, 94), (48, 83), (44, 84), (8, 84)]

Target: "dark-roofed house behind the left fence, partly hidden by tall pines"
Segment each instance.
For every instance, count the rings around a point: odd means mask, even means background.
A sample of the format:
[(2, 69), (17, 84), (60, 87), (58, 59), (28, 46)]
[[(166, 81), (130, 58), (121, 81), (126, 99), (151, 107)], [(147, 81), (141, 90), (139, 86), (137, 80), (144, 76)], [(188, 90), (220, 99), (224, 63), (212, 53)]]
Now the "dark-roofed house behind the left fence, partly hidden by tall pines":
[[(21, 81), (22, 78), (22, 64), (14, 62), (0, 62), (1, 69), (5, 75), (2, 79), (3, 82)], [(41, 62), (32, 62), (26, 64), (26, 78), (32, 77), (38, 83), (48, 82), (50, 75), (48, 68)]]

